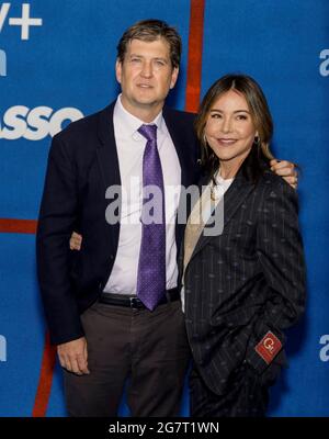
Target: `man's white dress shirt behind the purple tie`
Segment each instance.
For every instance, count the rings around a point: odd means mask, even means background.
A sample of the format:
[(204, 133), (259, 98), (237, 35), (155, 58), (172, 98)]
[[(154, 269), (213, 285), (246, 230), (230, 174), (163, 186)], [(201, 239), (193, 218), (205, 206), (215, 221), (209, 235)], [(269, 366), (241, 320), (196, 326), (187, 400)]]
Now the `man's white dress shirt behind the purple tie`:
[[(147, 140), (137, 132), (144, 122), (123, 108), (121, 95), (114, 106), (113, 122), (123, 196), (118, 248), (104, 292), (136, 294), (141, 241), (143, 155)], [(163, 173), (166, 288), (170, 290), (177, 286), (178, 281), (175, 217), (180, 196), (181, 167), (162, 112), (151, 124), (156, 124), (158, 127), (157, 144)]]

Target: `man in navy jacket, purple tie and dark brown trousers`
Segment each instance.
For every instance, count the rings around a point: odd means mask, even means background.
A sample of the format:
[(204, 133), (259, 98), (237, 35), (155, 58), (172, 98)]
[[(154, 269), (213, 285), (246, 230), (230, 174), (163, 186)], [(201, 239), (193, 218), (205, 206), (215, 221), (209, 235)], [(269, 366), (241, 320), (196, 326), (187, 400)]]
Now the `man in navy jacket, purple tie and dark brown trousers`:
[[(37, 267), (71, 416), (115, 416), (127, 378), (133, 416), (179, 414), (189, 362), (177, 289), (184, 225), (175, 224), (179, 196), (168, 199), (163, 188), (198, 179), (194, 117), (163, 108), (180, 56), (174, 29), (136, 23), (117, 46), (122, 94), (53, 139)], [(145, 185), (160, 188), (162, 225), (143, 221)], [(117, 202), (105, 198), (113, 187), (128, 194), (120, 222), (106, 211)], [(75, 229), (83, 235), (79, 252), (68, 245)]]

